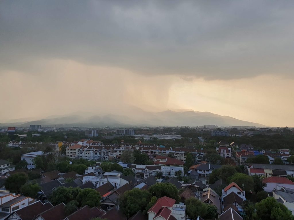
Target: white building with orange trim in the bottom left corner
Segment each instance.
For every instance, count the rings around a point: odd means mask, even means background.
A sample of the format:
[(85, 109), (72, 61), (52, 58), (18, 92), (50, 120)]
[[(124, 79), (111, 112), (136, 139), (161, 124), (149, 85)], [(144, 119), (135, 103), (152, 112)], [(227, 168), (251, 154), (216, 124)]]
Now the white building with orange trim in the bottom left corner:
[[(1, 195), (1, 194), (0, 194)], [(4, 194), (0, 197), (0, 218), (11, 214), (17, 209), (24, 208), (34, 202), (34, 199), (27, 196), (15, 195), (15, 194)]]

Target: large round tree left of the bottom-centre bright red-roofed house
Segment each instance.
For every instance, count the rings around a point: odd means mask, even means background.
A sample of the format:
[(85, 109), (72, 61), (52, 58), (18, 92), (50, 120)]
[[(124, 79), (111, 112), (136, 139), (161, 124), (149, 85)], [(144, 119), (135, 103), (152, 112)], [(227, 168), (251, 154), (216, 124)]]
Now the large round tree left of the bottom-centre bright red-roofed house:
[(140, 210), (144, 211), (150, 201), (151, 193), (147, 190), (133, 188), (121, 195), (119, 198), (119, 208), (129, 218)]

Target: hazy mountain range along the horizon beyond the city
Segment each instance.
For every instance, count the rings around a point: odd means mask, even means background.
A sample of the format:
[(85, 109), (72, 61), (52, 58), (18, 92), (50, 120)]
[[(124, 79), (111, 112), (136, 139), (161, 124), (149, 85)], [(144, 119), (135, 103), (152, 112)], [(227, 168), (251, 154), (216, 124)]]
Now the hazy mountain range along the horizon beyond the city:
[(0, 123), (0, 127), (21, 126), (31, 124), (41, 126), (85, 126), (85, 127), (131, 127), (131, 126), (256, 126), (264, 127), (259, 123), (242, 121), (229, 116), (221, 116), (211, 112), (193, 111), (191, 109), (166, 110), (161, 112), (144, 111), (132, 108), (121, 111), (122, 114), (95, 114), (76, 112), (68, 115), (53, 115), (39, 120), (11, 120)]

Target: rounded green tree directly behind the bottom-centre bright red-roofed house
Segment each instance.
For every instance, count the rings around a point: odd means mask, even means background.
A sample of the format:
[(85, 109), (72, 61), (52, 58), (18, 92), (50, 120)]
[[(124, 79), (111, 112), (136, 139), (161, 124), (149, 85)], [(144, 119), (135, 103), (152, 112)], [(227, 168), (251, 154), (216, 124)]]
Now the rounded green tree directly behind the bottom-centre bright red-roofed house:
[(177, 201), (180, 200), (177, 187), (171, 183), (156, 183), (152, 185), (148, 191), (152, 194), (152, 196), (156, 196), (157, 199), (167, 196), (172, 199), (176, 199)]

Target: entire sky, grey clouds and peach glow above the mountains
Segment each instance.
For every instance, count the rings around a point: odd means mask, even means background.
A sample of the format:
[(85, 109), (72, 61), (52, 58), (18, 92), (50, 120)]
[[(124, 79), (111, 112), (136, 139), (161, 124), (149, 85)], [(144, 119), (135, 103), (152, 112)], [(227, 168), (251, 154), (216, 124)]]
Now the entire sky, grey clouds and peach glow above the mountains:
[(0, 123), (210, 111), (294, 126), (293, 1), (0, 1)]

